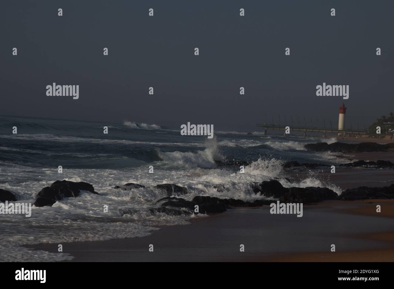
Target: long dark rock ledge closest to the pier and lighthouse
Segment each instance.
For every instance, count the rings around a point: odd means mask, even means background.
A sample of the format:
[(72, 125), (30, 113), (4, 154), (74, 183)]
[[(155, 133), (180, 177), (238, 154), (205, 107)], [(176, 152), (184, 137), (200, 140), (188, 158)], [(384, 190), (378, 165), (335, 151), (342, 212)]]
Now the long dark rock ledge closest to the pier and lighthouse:
[(327, 144), (326, 142), (318, 142), (314, 144), (306, 144), (305, 148), (310, 151), (331, 151), (336, 153), (364, 153), (372, 151), (387, 151), (394, 148), (394, 143), (377, 144), (374, 142), (361, 142), (359, 144), (346, 144), (343, 142), (334, 142)]

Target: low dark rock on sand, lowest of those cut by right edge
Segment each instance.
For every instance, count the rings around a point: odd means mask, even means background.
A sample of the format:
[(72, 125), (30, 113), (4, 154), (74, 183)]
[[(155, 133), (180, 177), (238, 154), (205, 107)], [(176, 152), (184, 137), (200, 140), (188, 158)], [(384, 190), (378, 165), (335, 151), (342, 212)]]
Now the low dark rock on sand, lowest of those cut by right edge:
[(338, 200), (343, 201), (368, 199), (394, 199), (394, 184), (381, 188), (358, 187), (354, 189), (348, 189), (342, 192), (342, 194), (338, 197)]

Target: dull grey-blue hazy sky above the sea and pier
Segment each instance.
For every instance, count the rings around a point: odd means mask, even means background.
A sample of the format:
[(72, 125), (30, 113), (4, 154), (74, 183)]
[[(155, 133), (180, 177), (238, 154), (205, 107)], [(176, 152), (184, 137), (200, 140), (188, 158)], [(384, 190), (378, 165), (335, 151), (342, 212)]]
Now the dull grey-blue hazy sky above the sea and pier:
[[(394, 111), (392, 0), (0, 5), (0, 115), (255, 131), (266, 114), (337, 123), (342, 102), (346, 127)], [(323, 82), (349, 99), (316, 96)], [(47, 96), (52, 83), (79, 99)]]

